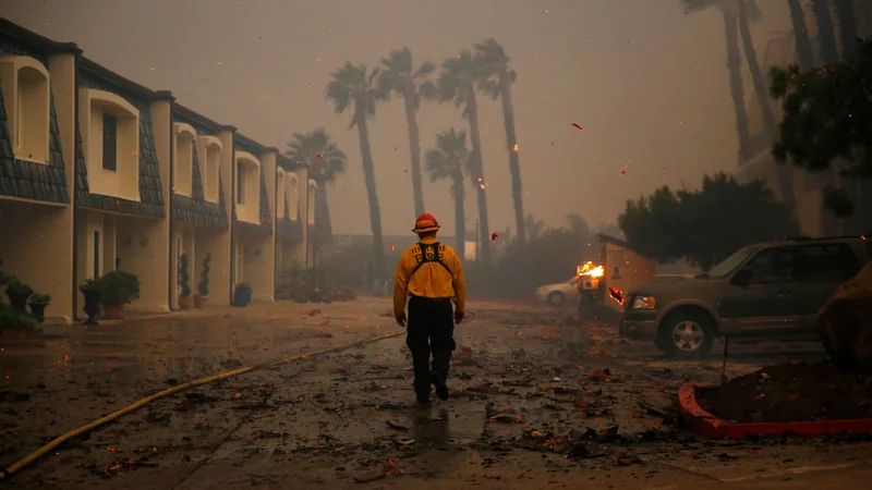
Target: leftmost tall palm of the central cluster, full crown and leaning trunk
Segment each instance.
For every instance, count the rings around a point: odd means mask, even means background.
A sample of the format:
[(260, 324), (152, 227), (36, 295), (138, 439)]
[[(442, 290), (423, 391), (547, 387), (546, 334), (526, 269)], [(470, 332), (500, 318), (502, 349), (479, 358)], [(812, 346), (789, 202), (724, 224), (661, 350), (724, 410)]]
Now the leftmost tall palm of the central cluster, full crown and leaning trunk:
[(363, 180), (366, 185), (366, 197), (370, 200), (370, 225), (373, 229), (373, 274), (380, 278), (385, 273), (385, 247), (382, 237), (382, 210), (378, 207), (378, 193), (375, 186), (375, 166), (370, 149), (370, 130), (366, 120), (375, 117), (375, 105), (384, 100), (374, 84), (378, 69), (368, 72), (363, 64), (346, 62), (330, 74), (332, 81), (327, 84), (325, 98), (334, 102), (337, 114), (352, 110), (349, 128), (358, 127), (363, 160)]

